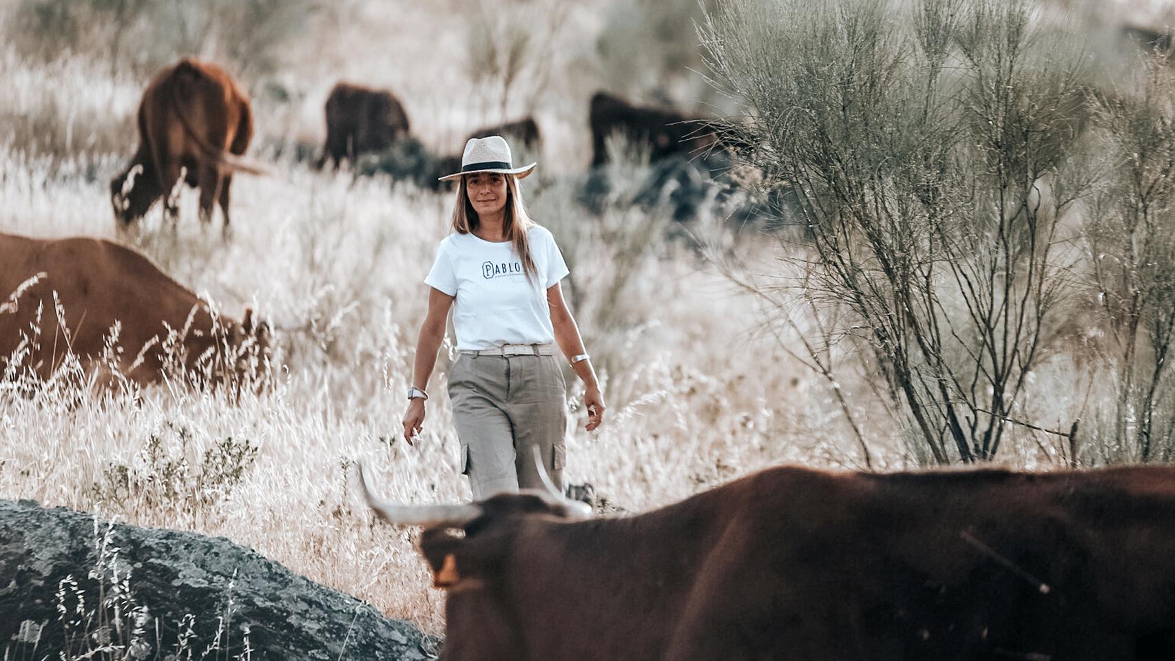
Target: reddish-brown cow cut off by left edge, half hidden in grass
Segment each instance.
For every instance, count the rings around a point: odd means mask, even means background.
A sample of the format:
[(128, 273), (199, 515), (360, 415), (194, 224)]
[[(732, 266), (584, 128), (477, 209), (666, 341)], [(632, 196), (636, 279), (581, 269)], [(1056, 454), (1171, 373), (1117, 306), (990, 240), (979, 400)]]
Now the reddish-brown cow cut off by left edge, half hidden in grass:
[(254, 324), (251, 311), (242, 323), (215, 315), (126, 245), (0, 234), (0, 377), (47, 379), (67, 352), (106, 367), (101, 357), (115, 323), (113, 366), (141, 385), (166, 373), (197, 382), (256, 377), (269, 357), (269, 328)]

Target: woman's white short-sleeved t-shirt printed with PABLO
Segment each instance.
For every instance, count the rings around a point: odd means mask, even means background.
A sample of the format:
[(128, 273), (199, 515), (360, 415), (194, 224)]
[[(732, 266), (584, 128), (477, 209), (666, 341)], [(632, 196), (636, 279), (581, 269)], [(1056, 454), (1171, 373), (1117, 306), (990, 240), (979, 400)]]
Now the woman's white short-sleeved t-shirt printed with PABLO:
[(456, 297), (452, 325), (458, 350), (555, 342), (546, 290), (570, 271), (550, 230), (535, 225), (526, 238), (537, 282), (526, 277), (509, 241), (492, 243), (454, 232), (441, 242), (424, 282)]

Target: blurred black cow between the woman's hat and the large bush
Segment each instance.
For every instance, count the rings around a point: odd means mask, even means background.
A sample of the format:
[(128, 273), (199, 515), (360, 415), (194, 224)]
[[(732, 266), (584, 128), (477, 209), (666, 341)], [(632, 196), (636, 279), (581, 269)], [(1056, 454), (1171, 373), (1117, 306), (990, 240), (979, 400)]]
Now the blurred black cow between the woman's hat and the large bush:
[(666, 108), (633, 106), (597, 92), (588, 114), (591, 126), (592, 167), (607, 162), (606, 140), (619, 134), (631, 144), (647, 148), (652, 162), (669, 156), (704, 155), (717, 143), (714, 129), (705, 121), (691, 120)]

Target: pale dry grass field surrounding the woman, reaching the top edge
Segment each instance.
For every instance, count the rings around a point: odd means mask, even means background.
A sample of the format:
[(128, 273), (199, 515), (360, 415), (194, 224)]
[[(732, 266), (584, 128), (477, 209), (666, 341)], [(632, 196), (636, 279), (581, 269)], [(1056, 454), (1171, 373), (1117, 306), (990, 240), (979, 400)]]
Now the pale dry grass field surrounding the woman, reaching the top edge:
[[(266, 79), (293, 90), (289, 100), (254, 89), (261, 157), (273, 146), (321, 141), (321, 106), (340, 77), (391, 87), (414, 133), (432, 149), (458, 149), (464, 131), (497, 119), (492, 101), (469, 93), (478, 87), (463, 13), (474, 5), (343, 2), (316, 14)], [(607, 5), (576, 2), (557, 26), (563, 47), (536, 96), (548, 135), (543, 177), (524, 188), (532, 216), (571, 264), (573, 311), (610, 404), (596, 433), (583, 431), (577, 412), (566, 479), (642, 511), (767, 465), (861, 467), (832, 384), (790, 355), (803, 351), (795, 331), (811, 323), (803, 310), (793, 311), (795, 326), (765, 325), (763, 299), (667, 238), (665, 214), (613, 203), (593, 215), (575, 202), (570, 177), (589, 160), (586, 99), (599, 75), (593, 35)], [(518, 9), (503, 2), (502, 11)], [(89, 53), (43, 60), (0, 47), (0, 230), (113, 237), (108, 181), (133, 150), (130, 117), (146, 76)], [(135, 397), (78, 396), (53, 384), (22, 397), (0, 385), (0, 498), (224, 535), (437, 632), (443, 594), (428, 586), (415, 531), (376, 525), (351, 480), (363, 460), (390, 498), (469, 498), (455, 470), (446, 359), (432, 377), (438, 394), (423, 439), (415, 447), (397, 440), (422, 278), (451, 198), (382, 176), (320, 173), (288, 156), (269, 167), (268, 177), (237, 177), (230, 243), (219, 228), (200, 227), (190, 190), (177, 234), (160, 227), (155, 209), (134, 241), (228, 313), (253, 306), (277, 326), (276, 386), (233, 405), (179, 385)], [(705, 211), (690, 229), (744, 279), (770, 283), (779, 270), (774, 257), (785, 248), (758, 230), (734, 232)], [(913, 465), (859, 362), (838, 358), (838, 385), (875, 465)], [(1072, 409), (1069, 373), (1049, 364), (1034, 377), (1038, 419)], [(1047, 443), (1020, 438), (1006, 460), (1053, 461)]]

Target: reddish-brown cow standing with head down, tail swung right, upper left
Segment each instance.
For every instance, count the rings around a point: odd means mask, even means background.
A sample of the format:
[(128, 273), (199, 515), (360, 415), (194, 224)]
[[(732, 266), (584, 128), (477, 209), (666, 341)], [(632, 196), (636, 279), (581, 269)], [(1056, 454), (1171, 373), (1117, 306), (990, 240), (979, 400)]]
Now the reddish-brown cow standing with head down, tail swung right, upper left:
[(233, 76), (208, 62), (184, 58), (150, 81), (139, 103), (139, 150), (110, 182), (119, 229), (142, 217), (160, 197), (175, 223), (173, 189), (183, 181), (200, 188), (200, 220), (212, 220), (219, 202), (229, 234), (233, 173), (262, 174), (240, 156), (253, 139), (249, 99)]

